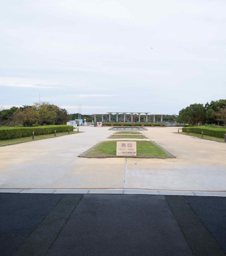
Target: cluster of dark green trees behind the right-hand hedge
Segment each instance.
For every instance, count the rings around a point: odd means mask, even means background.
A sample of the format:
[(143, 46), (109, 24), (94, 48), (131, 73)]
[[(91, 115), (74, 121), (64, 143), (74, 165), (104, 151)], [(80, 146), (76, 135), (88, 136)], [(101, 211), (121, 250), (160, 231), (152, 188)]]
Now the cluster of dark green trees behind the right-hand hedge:
[(178, 123), (190, 125), (226, 125), (226, 100), (211, 101), (211, 103), (191, 104), (179, 111)]

